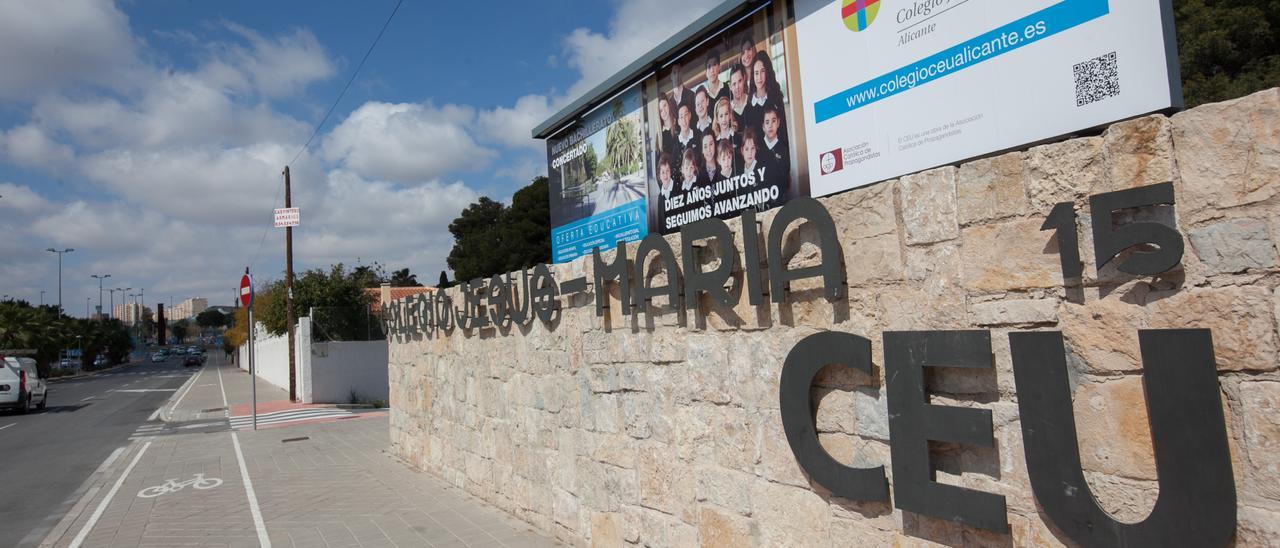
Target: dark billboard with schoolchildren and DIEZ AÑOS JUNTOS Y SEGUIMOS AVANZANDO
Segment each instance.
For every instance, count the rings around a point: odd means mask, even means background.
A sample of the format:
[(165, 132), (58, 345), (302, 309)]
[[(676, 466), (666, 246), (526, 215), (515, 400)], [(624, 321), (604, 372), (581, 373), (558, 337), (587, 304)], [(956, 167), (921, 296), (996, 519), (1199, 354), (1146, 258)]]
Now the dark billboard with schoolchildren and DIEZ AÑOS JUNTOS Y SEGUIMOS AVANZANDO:
[(646, 86), (649, 228), (767, 210), (805, 196), (785, 3), (765, 3), (669, 59)]

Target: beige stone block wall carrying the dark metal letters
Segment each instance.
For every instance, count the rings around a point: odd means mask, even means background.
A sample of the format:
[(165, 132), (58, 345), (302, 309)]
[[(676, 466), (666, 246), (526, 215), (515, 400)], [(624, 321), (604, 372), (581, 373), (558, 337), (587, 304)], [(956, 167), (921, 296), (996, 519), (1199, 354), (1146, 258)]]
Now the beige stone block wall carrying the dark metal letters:
[[(1164, 220), (1184, 237), (1181, 265), (1156, 278), (1110, 265), (1100, 274), (1088, 196), (1162, 182), (1176, 189)], [(744, 298), (732, 310), (704, 302), (696, 314), (655, 316), (614, 306), (596, 318), (594, 297), (579, 296), (552, 329), (393, 339), (394, 452), (572, 544), (1057, 545), (1065, 536), (1028, 483), (1006, 334), (1064, 333), (1089, 485), (1114, 516), (1139, 521), (1158, 490), (1138, 329), (1210, 328), (1236, 544), (1275, 545), (1277, 193), (1280, 90), (1268, 90), (826, 197), (847, 298), (828, 301), (806, 280), (782, 305)], [(1080, 211), (1085, 265), (1074, 288), (1053, 233), (1039, 229), (1061, 201)], [(768, 227), (772, 213), (762, 220)], [(791, 264), (813, 260), (805, 229), (796, 232)], [(563, 280), (590, 268), (588, 257), (553, 270)], [(841, 462), (892, 472), (881, 334), (913, 329), (992, 330), (993, 371), (942, 369), (928, 388), (933, 403), (991, 410), (996, 447), (936, 444), (932, 457), (938, 481), (1006, 497), (1009, 535), (835, 498), (787, 446), (786, 353), (815, 332), (856, 333), (873, 342), (877, 373), (819, 376), (819, 438)]]

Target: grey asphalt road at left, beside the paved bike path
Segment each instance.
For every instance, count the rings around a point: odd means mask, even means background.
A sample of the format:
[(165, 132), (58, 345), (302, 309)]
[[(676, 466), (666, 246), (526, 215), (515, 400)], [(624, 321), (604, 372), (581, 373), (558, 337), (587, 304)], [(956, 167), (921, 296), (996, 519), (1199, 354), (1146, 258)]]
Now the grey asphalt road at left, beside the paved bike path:
[(0, 545), (38, 543), (84, 480), (197, 370), (179, 357), (147, 361), (51, 382), (42, 411), (0, 411)]

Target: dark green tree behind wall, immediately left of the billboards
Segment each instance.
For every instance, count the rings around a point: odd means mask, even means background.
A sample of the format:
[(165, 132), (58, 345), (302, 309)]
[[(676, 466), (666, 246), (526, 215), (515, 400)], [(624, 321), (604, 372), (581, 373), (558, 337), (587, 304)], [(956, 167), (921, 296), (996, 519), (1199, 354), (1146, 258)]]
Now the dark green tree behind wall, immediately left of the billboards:
[(548, 181), (534, 179), (512, 197), (511, 207), (481, 197), (449, 224), (454, 280), (504, 274), (552, 256)]

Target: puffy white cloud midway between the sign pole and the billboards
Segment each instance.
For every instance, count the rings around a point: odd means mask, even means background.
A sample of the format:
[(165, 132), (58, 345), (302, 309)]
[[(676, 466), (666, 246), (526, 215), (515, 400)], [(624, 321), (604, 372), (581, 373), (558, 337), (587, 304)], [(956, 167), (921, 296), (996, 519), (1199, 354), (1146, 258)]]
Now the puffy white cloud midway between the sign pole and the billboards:
[(477, 169), (495, 156), (476, 143), (470, 108), (366, 102), (325, 137), (325, 159), (371, 179), (420, 182)]

